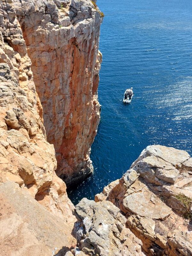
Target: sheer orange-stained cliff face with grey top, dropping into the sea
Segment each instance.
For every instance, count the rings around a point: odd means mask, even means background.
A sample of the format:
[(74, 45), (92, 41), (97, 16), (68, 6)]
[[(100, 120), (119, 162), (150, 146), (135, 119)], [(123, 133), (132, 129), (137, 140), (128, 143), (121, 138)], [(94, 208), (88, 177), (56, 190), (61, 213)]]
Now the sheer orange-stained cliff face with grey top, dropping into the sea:
[(101, 16), (90, 0), (15, 1), (43, 106), (57, 175), (67, 185), (93, 171), (90, 147), (100, 121), (97, 97)]

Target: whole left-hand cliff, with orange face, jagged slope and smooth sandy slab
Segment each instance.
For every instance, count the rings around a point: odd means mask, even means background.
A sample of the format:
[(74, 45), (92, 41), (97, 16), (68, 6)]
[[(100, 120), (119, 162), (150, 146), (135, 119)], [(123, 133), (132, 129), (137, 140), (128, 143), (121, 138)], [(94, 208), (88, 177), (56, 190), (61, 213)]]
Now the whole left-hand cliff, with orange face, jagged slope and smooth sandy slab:
[(91, 1), (0, 2), (1, 255), (59, 256), (76, 246), (55, 149), (68, 183), (92, 171), (101, 19)]

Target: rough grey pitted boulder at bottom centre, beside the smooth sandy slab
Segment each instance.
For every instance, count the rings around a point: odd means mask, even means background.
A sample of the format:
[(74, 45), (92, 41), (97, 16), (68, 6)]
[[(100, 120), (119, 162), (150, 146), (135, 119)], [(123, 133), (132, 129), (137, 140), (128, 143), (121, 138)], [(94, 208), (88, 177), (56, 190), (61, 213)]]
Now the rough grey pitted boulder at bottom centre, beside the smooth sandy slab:
[(126, 218), (109, 201), (83, 198), (76, 205), (74, 228), (79, 248), (88, 255), (142, 255), (140, 241), (125, 228)]

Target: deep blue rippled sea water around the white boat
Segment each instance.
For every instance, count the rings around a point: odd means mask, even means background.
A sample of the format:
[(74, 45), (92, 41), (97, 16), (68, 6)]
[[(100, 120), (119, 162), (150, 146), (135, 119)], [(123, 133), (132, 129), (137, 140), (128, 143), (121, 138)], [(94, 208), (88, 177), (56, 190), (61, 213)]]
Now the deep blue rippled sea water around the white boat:
[[(77, 204), (122, 177), (148, 145), (192, 155), (192, 1), (97, 0), (101, 121), (91, 159), (94, 174), (68, 191)], [(122, 102), (133, 87), (130, 105)]]

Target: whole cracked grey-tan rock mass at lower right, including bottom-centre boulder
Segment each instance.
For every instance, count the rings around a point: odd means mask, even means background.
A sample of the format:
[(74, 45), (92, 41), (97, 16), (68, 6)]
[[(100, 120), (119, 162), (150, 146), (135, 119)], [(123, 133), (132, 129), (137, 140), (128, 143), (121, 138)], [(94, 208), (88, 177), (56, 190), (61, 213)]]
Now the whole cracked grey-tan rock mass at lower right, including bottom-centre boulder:
[[(149, 146), (120, 180), (76, 205), (66, 255), (192, 255), (192, 158)], [(78, 252), (78, 253), (77, 253)]]

